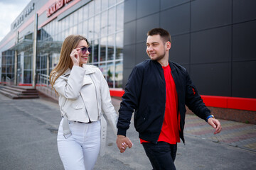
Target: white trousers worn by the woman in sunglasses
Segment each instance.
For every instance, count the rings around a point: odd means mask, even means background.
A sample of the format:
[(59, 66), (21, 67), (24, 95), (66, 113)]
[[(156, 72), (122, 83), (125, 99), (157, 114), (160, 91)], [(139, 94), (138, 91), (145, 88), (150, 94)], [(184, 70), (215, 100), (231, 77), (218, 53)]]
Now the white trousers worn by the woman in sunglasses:
[(100, 152), (100, 120), (95, 123), (69, 121), (72, 135), (63, 136), (63, 120), (58, 130), (58, 152), (65, 170), (91, 170)]

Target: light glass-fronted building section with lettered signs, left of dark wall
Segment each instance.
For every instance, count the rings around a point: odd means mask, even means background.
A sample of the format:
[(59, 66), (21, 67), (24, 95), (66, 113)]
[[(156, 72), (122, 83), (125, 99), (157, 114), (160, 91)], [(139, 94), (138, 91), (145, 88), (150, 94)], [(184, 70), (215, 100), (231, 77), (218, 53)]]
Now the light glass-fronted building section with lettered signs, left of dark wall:
[(122, 88), (123, 18), (123, 0), (32, 0), (0, 42), (1, 82), (32, 84), (35, 52), (36, 74), (49, 75), (64, 39), (79, 34), (92, 47), (90, 64), (111, 88)]

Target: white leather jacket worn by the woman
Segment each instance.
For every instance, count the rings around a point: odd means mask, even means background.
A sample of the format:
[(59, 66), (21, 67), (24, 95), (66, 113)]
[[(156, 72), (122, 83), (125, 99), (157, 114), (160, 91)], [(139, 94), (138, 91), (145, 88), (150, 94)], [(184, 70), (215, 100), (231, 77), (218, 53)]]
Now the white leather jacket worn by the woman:
[(64, 118), (64, 133), (70, 132), (68, 120), (83, 123), (100, 120), (100, 155), (103, 156), (105, 153), (107, 122), (102, 112), (107, 116), (115, 135), (117, 135), (117, 113), (111, 103), (107, 81), (100, 69), (87, 64), (83, 64), (82, 67), (73, 66), (71, 70), (67, 69), (63, 75), (58, 77), (53, 87), (59, 94), (60, 112)]

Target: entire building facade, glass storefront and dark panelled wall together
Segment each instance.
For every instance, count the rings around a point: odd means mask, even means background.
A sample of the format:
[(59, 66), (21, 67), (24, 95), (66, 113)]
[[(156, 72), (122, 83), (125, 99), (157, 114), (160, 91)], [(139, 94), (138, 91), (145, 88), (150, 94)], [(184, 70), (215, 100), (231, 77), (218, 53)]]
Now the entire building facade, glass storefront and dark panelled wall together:
[[(146, 33), (169, 30), (170, 60), (186, 67), (200, 94), (256, 98), (254, 0), (32, 0), (0, 42), (1, 82), (31, 84), (35, 21), (36, 74), (48, 75), (70, 34), (90, 42), (90, 64), (110, 88), (124, 89), (146, 60)], [(36, 20), (35, 13), (38, 17)]]

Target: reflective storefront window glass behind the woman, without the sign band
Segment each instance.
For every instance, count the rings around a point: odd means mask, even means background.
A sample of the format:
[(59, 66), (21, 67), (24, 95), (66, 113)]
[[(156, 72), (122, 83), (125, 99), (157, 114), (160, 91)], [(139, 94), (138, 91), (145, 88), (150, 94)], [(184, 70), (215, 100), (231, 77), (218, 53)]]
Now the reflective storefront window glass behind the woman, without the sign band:
[[(36, 74), (49, 74), (58, 64), (63, 40), (70, 34), (84, 35), (90, 42), (89, 64), (100, 68), (110, 87), (122, 84), (122, 48), (124, 0), (95, 0), (63, 18), (55, 18), (39, 28)], [(33, 33), (23, 35), (13, 50), (2, 52), (2, 77), (14, 77), (14, 53), (17, 52), (17, 82), (31, 84)], [(30, 42), (26, 42), (30, 40)], [(117, 65), (118, 64), (118, 65)]]

